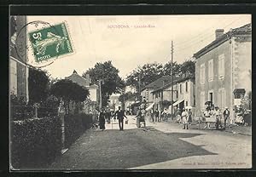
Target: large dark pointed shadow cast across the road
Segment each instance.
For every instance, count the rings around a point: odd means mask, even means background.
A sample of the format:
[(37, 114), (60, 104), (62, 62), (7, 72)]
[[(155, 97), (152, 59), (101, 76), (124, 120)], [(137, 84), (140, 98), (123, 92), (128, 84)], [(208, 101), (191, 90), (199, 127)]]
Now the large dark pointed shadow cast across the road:
[(165, 134), (151, 127), (89, 130), (49, 169), (122, 169), (214, 153), (181, 140), (201, 134)]

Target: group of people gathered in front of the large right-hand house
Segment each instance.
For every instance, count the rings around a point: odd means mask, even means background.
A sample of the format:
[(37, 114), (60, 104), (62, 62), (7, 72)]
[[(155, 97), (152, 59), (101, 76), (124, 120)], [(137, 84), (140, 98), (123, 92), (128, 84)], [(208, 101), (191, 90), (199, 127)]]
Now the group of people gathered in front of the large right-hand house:
[(211, 128), (210, 122), (207, 122), (207, 118), (213, 117), (215, 119), (215, 128), (223, 128), (222, 117), (224, 117), (224, 128), (226, 128), (227, 119), (230, 117), (230, 110), (225, 107), (224, 111), (221, 112), (218, 106), (207, 106), (206, 111), (203, 112), (203, 116), (206, 119), (205, 128)]

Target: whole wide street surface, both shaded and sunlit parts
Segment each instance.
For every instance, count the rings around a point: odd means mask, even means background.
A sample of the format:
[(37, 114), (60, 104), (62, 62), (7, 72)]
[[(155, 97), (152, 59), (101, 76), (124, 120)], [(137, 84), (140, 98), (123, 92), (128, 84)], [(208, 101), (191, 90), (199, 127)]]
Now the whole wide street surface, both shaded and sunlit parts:
[(217, 130), (182, 129), (174, 123), (137, 128), (128, 117), (106, 130), (90, 129), (55, 160), (51, 169), (251, 168), (251, 136)]

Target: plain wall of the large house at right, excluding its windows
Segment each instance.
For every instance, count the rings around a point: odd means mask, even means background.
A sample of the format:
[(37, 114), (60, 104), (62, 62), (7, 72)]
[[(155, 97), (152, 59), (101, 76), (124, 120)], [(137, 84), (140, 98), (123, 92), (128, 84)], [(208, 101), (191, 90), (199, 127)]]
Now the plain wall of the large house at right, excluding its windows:
[[(224, 54), (224, 77), (219, 78), (218, 75), (218, 57)], [(213, 60), (213, 78), (212, 81), (208, 80), (208, 61)], [(205, 80), (201, 83), (200, 71), (201, 65), (205, 64)], [(209, 100), (209, 93), (213, 94), (213, 104), (218, 106), (220, 104), (219, 92), (222, 88), (225, 93), (224, 106), (228, 106), (231, 109), (231, 41), (228, 40), (220, 44), (215, 49), (203, 54), (196, 60), (195, 63), (195, 116), (201, 116), (203, 111), (201, 104), (201, 92), (205, 93), (205, 100)]]

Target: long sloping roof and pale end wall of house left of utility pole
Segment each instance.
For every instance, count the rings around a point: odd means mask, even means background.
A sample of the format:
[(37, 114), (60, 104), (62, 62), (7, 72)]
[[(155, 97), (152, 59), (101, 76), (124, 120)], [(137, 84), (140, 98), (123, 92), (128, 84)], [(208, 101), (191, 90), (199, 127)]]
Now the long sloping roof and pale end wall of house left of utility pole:
[(171, 76), (163, 76), (142, 88), (141, 96), (143, 97), (143, 100), (146, 100), (146, 106), (150, 106), (154, 103), (152, 92), (170, 82), (172, 82)]

